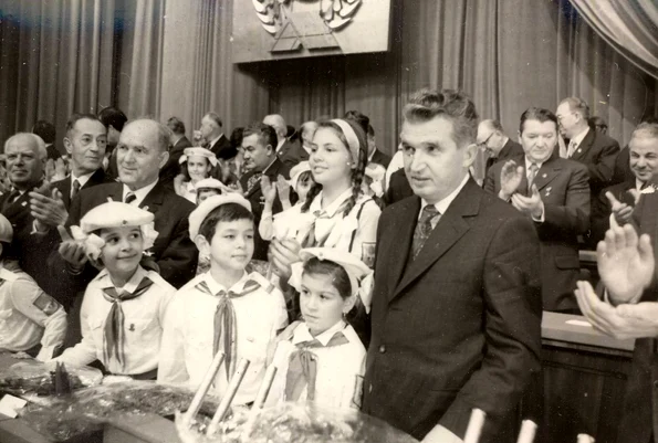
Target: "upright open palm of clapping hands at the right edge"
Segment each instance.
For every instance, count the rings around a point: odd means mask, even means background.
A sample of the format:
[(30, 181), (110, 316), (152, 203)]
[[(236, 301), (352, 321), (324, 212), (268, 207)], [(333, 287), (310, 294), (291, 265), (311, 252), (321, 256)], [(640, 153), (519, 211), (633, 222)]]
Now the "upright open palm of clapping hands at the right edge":
[(654, 279), (651, 239), (630, 224), (613, 226), (596, 247), (598, 274), (615, 303), (637, 303)]

